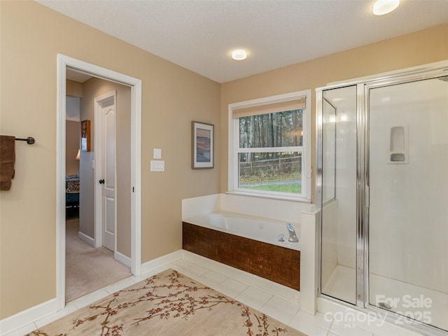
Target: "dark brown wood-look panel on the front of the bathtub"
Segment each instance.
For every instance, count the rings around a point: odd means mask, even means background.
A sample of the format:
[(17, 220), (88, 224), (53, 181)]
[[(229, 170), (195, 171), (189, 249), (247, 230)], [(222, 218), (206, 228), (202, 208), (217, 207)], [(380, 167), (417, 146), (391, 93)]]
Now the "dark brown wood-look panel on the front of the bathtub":
[(182, 222), (182, 248), (300, 290), (300, 251)]

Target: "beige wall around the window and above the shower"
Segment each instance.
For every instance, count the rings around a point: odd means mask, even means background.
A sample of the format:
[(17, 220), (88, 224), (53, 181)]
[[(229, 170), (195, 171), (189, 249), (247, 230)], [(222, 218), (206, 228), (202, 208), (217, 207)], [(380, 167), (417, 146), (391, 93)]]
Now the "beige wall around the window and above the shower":
[[(312, 90), (312, 164), (316, 87), (448, 59), (448, 25), (441, 25), (361, 48), (286, 66), (221, 85), (221, 192), (228, 190), (228, 104), (299, 90)], [(323, 41), (325, 43), (325, 41)], [(316, 169), (313, 169), (315, 172)], [(314, 183), (314, 176), (311, 181)], [(313, 200), (314, 200), (314, 190)]]

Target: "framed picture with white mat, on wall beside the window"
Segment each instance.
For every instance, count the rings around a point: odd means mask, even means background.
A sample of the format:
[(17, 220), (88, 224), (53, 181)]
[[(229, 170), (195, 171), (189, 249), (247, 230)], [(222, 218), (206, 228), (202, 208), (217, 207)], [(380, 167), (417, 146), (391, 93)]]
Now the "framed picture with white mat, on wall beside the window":
[(214, 166), (214, 125), (192, 121), (192, 169)]

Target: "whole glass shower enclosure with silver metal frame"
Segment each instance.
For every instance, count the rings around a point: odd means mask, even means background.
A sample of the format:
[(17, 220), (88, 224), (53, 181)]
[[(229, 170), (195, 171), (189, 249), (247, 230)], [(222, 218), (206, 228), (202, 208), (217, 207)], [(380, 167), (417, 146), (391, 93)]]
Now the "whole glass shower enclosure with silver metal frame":
[(319, 88), (316, 114), (319, 292), (448, 335), (448, 62)]

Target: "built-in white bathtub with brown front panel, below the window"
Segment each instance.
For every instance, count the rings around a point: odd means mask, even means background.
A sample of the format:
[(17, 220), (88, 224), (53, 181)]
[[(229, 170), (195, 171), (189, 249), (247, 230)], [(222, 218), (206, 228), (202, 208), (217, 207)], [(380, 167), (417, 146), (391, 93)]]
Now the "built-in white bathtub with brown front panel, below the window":
[[(182, 246), (206, 258), (300, 290), (300, 230), (298, 243), (288, 241), (286, 223), (230, 212), (186, 218)], [(283, 235), (285, 241), (279, 241)]]

